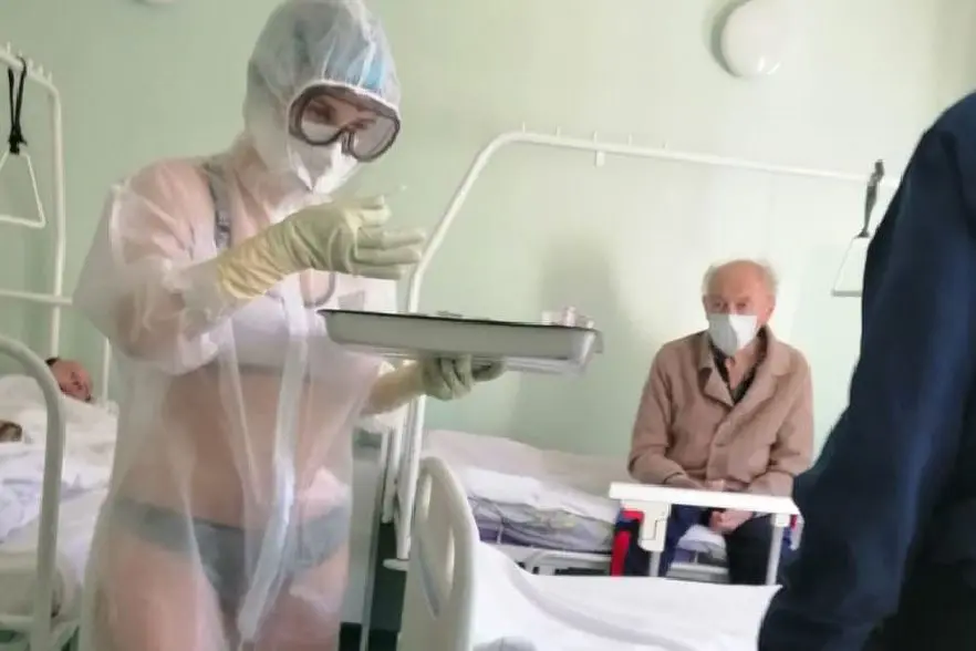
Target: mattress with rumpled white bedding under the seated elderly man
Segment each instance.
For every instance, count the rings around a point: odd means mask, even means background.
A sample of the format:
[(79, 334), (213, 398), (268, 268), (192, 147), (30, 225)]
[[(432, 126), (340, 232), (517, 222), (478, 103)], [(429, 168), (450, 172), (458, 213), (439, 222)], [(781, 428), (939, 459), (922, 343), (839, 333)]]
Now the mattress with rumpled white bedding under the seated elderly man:
[[(428, 432), (424, 453), (447, 462), (464, 485), (481, 540), (610, 552), (619, 506), (606, 490), (630, 480), (620, 458), (448, 430)], [(725, 559), (724, 540), (706, 527), (694, 527), (679, 547), (677, 560)]]

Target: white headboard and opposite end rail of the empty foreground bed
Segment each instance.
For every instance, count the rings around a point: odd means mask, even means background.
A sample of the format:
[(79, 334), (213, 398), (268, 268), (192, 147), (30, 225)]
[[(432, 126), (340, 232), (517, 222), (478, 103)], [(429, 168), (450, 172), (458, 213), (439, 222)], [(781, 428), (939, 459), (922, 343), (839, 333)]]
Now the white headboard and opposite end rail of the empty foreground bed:
[[(797, 507), (786, 497), (683, 490), (640, 484), (613, 484), (610, 497), (625, 508), (645, 514), (641, 544), (660, 552), (672, 504), (710, 508), (736, 508), (771, 514), (781, 530), (796, 515)], [(464, 486), (447, 464), (427, 457), (420, 464), (417, 508), (414, 514), (415, 548), (407, 569), (399, 651), (471, 651), (475, 619), (475, 555), (478, 527), (467, 503)], [(778, 537), (782, 540), (782, 537)], [(770, 551), (776, 567), (779, 548)], [(648, 580), (658, 580), (651, 578)], [(769, 581), (772, 582), (772, 581)]]

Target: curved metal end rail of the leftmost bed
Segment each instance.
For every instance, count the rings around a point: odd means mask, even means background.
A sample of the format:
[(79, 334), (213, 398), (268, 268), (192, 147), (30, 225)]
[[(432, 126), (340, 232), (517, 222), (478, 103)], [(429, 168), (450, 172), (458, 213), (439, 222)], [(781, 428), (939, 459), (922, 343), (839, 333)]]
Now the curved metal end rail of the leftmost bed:
[(61, 468), (64, 461), (64, 407), (61, 390), (48, 364), (23, 343), (0, 335), (0, 354), (20, 362), (37, 380), (48, 409), (44, 446), (44, 484), (38, 540), (38, 579), (30, 624), (30, 649), (48, 651), (51, 644), (51, 612), (54, 599), (54, 570), (58, 551), (58, 512), (61, 506)]

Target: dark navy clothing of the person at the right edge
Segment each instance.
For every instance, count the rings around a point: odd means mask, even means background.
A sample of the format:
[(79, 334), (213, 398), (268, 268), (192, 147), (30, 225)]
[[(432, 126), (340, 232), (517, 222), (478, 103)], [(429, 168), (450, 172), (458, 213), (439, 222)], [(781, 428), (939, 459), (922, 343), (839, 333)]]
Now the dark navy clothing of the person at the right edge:
[(951, 595), (976, 622), (974, 370), (970, 95), (923, 135), (869, 249), (849, 405), (797, 479), (803, 539), (760, 651), (861, 651), (886, 619), (885, 631), (916, 630), (916, 645), (876, 649), (976, 649), (976, 623), (961, 643), (959, 613), (932, 603)]

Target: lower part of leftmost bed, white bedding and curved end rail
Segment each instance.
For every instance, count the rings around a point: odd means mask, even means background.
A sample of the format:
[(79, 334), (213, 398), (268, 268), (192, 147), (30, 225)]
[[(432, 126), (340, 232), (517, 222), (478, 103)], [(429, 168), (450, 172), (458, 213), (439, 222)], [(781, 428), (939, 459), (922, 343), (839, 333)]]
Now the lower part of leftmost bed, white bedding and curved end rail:
[(0, 378), (0, 418), (23, 440), (0, 443), (0, 651), (55, 650), (81, 617), (84, 568), (115, 452), (110, 403), (61, 395), (46, 364), (0, 337), (29, 375)]

